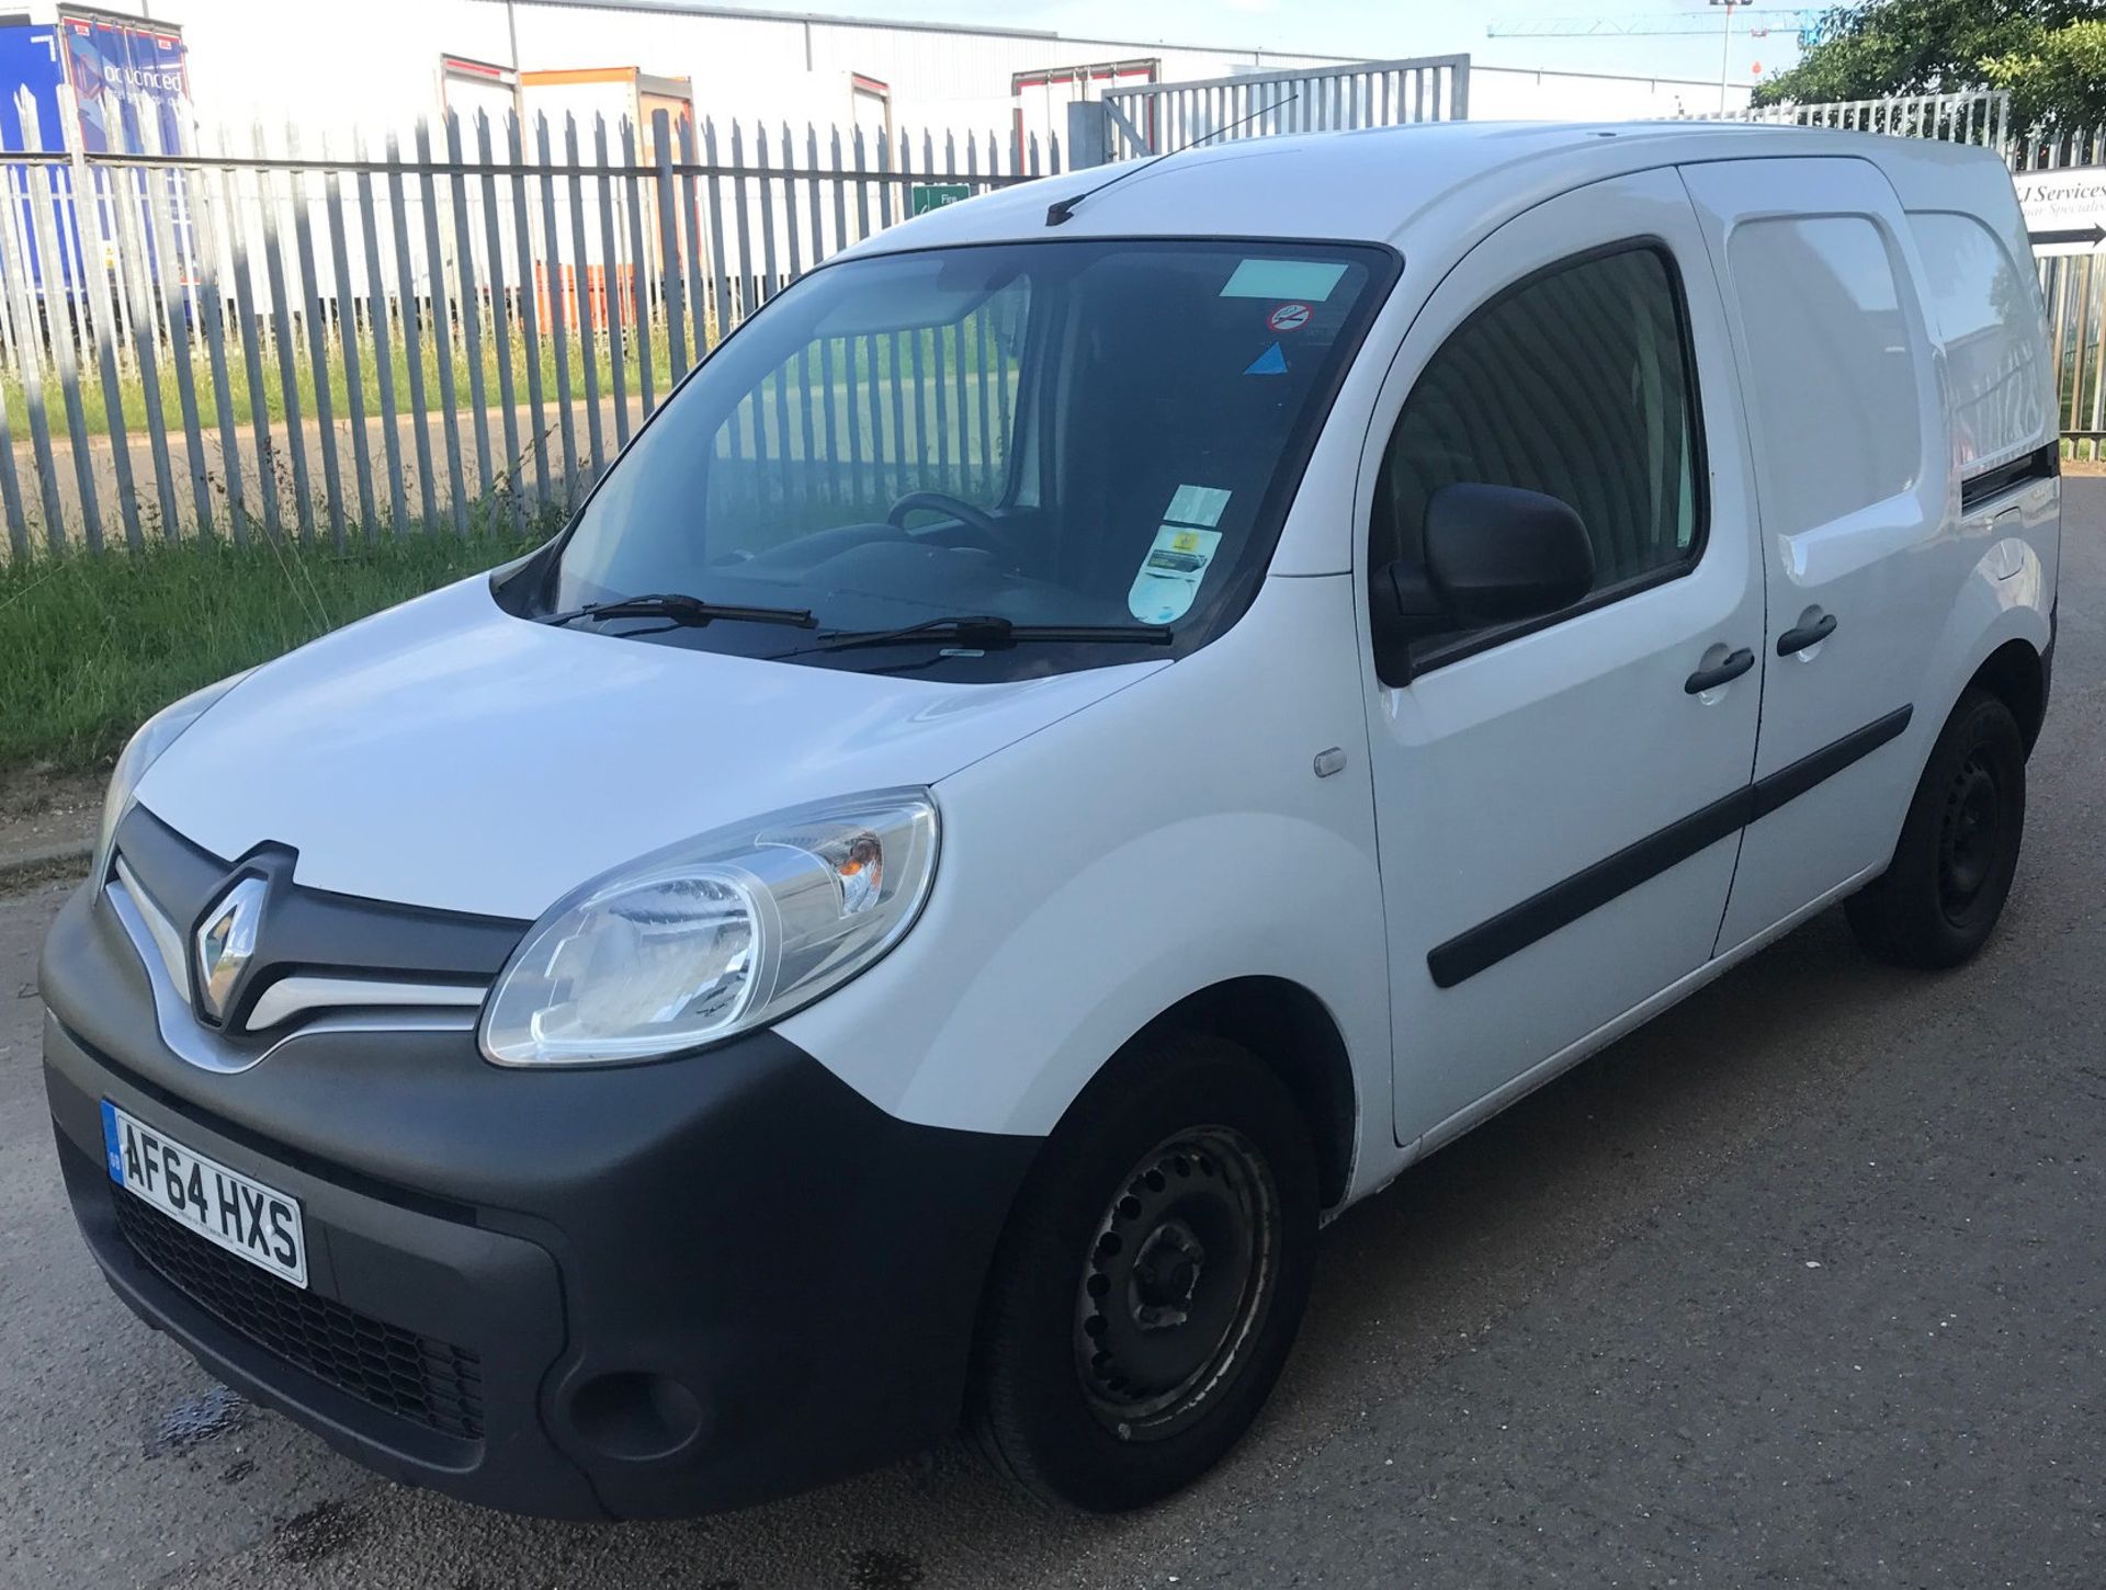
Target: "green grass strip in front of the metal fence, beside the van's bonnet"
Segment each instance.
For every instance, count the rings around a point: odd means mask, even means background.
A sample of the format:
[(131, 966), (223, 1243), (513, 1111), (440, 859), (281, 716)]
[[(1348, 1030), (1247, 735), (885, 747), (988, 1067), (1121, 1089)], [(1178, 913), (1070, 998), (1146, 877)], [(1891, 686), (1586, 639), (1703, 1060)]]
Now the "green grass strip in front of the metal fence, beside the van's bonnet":
[(411, 533), (347, 552), (181, 541), (0, 564), (0, 769), (97, 767), (175, 697), (535, 539)]

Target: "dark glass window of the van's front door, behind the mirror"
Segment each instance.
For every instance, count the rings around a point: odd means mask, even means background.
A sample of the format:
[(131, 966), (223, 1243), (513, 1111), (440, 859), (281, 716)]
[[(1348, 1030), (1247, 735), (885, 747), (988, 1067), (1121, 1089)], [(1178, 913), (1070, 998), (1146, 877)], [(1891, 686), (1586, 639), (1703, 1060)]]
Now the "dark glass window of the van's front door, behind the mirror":
[(1554, 265), (1455, 329), (1390, 434), (1369, 567), (1417, 562), (1426, 501), (1457, 482), (1542, 491), (1577, 510), (1596, 592), (1695, 562), (1695, 377), (1662, 249)]

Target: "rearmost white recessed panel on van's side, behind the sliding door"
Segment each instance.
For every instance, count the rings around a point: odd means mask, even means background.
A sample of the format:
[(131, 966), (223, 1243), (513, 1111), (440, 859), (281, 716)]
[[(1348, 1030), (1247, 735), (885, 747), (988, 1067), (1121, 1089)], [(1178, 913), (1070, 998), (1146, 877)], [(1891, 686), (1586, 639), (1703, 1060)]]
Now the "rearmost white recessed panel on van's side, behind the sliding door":
[(1971, 215), (1910, 213), (1952, 394), (1952, 463), (1973, 474), (2051, 434), (2041, 289)]

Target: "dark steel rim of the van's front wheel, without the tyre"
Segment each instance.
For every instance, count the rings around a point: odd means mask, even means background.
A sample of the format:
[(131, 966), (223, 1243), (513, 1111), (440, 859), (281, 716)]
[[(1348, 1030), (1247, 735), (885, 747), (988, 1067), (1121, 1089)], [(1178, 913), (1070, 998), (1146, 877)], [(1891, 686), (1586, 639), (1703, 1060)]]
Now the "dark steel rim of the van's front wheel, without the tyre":
[(1074, 1358), (1120, 1440), (1196, 1424), (1243, 1371), (1278, 1280), (1280, 1194), (1232, 1127), (1156, 1144), (1097, 1219), (1076, 1291)]

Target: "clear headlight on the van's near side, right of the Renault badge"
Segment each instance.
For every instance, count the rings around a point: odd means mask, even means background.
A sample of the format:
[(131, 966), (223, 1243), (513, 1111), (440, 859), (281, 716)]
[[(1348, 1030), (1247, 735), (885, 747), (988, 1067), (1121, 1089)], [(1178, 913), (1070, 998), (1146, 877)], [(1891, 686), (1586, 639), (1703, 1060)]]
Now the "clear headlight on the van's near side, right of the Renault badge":
[(838, 988), (914, 925), (935, 878), (927, 790), (720, 828), (556, 901), (482, 1007), (499, 1066), (661, 1059)]

